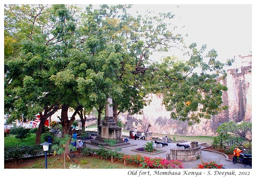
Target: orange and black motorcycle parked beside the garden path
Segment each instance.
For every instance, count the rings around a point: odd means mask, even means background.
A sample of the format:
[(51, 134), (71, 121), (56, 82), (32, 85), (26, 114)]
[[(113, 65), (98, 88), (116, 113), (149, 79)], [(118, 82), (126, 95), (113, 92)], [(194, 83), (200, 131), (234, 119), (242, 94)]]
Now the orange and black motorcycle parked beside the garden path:
[(233, 164), (237, 163), (237, 160), (239, 160), (241, 163), (244, 164), (245, 167), (246, 165), (249, 165), (251, 167), (251, 163), (252, 163), (251, 154), (243, 153), (243, 151), (239, 148), (235, 148), (233, 154), (234, 154), (234, 157), (232, 159)]

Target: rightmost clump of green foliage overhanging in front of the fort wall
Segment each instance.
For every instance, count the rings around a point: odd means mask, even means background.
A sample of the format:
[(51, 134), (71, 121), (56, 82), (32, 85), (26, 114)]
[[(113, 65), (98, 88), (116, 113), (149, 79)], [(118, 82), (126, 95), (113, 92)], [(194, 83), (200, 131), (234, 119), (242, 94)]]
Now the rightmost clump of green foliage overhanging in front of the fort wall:
[(190, 57), (187, 61), (166, 57), (156, 64), (153, 85), (155, 92), (163, 97), (166, 109), (171, 111), (170, 117), (187, 121), (189, 125), (200, 123), (201, 118), (210, 119), (227, 108), (222, 105), (222, 94), (228, 88), (216, 82), (217, 78), (225, 78), (225, 64), (216, 60), (215, 50), (206, 54), (209, 60), (206, 63), (202, 54), (206, 47), (202, 46), (201, 50), (196, 47), (195, 43), (190, 45), (192, 52), (187, 52)]

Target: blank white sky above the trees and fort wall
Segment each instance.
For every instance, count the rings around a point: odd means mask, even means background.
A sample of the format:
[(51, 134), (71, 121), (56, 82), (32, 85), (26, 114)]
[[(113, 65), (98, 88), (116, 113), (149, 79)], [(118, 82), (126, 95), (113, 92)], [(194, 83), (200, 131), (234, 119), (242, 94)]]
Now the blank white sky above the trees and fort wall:
[[(188, 34), (185, 42), (196, 42), (206, 51), (214, 48), (218, 60), (225, 62), (235, 55), (248, 55), (252, 50), (252, 5), (133, 5), (139, 12), (152, 9), (175, 14), (179, 33)], [(185, 26), (185, 28), (182, 28)], [(178, 29), (177, 29), (178, 30)], [(173, 54), (173, 53), (171, 53)], [(175, 53), (178, 54), (178, 53)]]

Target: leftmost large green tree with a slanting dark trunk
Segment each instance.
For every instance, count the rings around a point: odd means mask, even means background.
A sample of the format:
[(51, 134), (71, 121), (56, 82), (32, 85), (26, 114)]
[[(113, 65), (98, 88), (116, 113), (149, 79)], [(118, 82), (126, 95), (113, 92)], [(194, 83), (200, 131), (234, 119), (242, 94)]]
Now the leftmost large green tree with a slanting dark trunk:
[(46, 119), (59, 109), (61, 98), (49, 80), (55, 73), (55, 61), (50, 54), (47, 8), (5, 5), (5, 113), (11, 115), (9, 122), (20, 116), (32, 120), (39, 113), (36, 144), (40, 143)]

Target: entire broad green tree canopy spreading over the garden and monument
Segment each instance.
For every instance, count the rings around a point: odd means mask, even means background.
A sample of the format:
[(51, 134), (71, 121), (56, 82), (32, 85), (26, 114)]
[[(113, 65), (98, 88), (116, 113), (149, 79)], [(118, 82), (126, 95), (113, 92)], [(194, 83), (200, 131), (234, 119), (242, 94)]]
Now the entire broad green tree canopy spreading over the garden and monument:
[(161, 94), (170, 117), (190, 124), (225, 109), (227, 87), (216, 80), (225, 77), (225, 64), (217, 52), (205, 55), (206, 45), (198, 50), (193, 43), (187, 61), (171, 56), (156, 62), (154, 52), (185, 45), (171, 25), (175, 15), (133, 16), (130, 8), (5, 5), (5, 113), (47, 118), (62, 109), (65, 134), (71, 134), (76, 113), (96, 107), (100, 115), (108, 97), (117, 116), (139, 113), (147, 94)]

